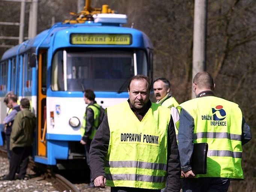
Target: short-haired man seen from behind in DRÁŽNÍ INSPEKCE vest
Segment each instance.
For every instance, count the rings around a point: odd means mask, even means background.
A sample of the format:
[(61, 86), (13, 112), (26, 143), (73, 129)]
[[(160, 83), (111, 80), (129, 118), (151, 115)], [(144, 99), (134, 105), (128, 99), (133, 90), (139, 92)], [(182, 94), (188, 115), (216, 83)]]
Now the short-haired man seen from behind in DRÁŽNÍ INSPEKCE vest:
[[(193, 79), (196, 98), (178, 106), (181, 110), (178, 148), (183, 192), (225, 192), (230, 179), (244, 179), (242, 145), (251, 139), (238, 104), (215, 97), (211, 74), (202, 71)], [(194, 174), (190, 159), (194, 143), (208, 143), (207, 172)]]

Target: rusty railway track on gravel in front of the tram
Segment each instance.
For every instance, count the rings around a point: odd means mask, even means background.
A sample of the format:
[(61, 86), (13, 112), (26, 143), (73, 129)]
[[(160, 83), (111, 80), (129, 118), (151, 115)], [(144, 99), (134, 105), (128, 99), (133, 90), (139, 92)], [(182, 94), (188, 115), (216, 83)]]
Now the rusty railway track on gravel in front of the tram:
[[(0, 156), (7, 158), (7, 152), (5, 149), (3, 149), (3, 147), (0, 147)], [(40, 170), (40, 177), (47, 182), (51, 182), (57, 191), (80, 192), (80, 190), (78, 190), (77, 187), (69, 182), (65, 177), (54, 173), (48, 168), (44, 168), (44, 166), (39, 166), (30, 160), (28, 167), (30, 169), (35, 168), (34, 170)]]

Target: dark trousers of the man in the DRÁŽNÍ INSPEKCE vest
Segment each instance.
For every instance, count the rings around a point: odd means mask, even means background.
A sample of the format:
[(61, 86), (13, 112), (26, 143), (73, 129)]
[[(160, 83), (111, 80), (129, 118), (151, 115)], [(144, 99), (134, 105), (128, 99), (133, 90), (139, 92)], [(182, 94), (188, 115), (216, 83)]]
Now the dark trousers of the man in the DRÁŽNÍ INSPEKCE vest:
[(182, 192), (227, 192), (230, 180), (226, 178), (186, 178)]

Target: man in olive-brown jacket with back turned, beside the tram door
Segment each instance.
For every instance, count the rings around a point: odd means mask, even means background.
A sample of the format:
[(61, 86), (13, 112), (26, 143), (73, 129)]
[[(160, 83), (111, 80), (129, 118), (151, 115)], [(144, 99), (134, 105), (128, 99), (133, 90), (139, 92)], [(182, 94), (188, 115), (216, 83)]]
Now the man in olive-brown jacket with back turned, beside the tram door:
[(15, 116), (10, 137), (12, 157), (9, 174), (3, 180), (13, 180), (19, 168), (18, 179), (24, 179), (26, 174), (36, 127), (35, 115), (30, 112), (29, 107), (29, 100), (27, 98), (21, 99), (21, 111)]

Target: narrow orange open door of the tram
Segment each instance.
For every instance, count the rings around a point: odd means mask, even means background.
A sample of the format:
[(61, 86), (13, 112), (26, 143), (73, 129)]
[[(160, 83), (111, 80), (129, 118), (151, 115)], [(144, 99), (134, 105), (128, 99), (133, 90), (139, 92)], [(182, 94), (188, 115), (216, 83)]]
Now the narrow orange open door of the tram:
[(46, 156), (45, 134), (46, 124), (46, 86), (47, 86), (47, 50), (39, 51), (38, 60), (38, 130), (37, 130), (37, 155)]

